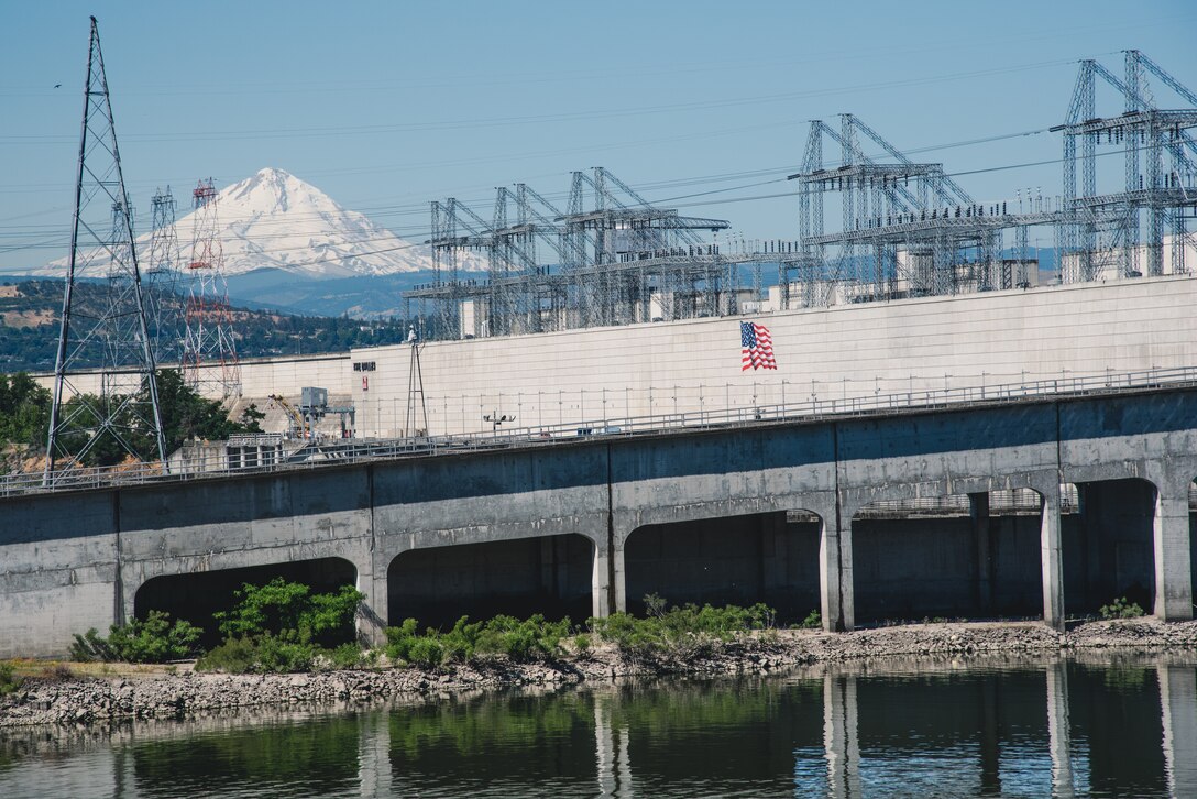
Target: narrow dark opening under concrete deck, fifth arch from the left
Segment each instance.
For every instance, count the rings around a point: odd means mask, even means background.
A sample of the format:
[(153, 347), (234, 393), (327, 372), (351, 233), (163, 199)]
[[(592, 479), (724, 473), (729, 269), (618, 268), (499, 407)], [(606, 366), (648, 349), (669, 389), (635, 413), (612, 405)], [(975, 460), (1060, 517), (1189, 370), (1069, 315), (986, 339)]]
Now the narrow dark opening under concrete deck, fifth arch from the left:
[(1076, 484), (1077, 513), (1062, 527), (1069, 617), (1096, 615), (1122, 598), (1154, 612), (1156, 494), (1137, 477)]

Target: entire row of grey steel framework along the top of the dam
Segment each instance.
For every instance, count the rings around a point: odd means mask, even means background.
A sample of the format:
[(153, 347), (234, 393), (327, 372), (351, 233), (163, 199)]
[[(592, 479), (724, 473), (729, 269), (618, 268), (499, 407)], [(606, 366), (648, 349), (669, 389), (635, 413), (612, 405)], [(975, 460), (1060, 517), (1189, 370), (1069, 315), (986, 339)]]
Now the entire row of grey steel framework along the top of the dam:
[[(573, 172), (564, 212), (524, 183), (498, 189), (488, 222), (454, 198), (433, 202), (436, 279), (405, 297), (435, 320), (431, 337), (457, 338), (1027, 287), (1039, 271), (1033, 230), (1055, 243), (1065, 283), (1185, 273), (1186, 249), (1190, 259), (1197, 249), (1197, 95), (1138, 50), (1125, 53), (1124, 69), (1119, 79), (1081, 62), (1065, 121), (1052, 128), (1063, 133), (1059, 195), (1020, 188), (978, 202), (943, 164), (912, 162), (843, 114), (836, 126), (810, 122), (802, 170), (790, 175), (796, 242), (721, 244), (727, 222), (655, 206), (596, 168)], [(1099, 79), (1119, 98), (1106, 116)], [(1160, 108), (1152, 79), (1189, 108)], [(1117, 188), (1113, 159), (1099, 170), (1102, 155), (1122, 156)], [(833, 226), (830, 195), (840, 200)], [(485, 258), (485, 278), (461, 268), (470, 254)], [(745, 265), (751, 286), (741, 286)], [(778, 276), (771, 302), (766, 265)]]

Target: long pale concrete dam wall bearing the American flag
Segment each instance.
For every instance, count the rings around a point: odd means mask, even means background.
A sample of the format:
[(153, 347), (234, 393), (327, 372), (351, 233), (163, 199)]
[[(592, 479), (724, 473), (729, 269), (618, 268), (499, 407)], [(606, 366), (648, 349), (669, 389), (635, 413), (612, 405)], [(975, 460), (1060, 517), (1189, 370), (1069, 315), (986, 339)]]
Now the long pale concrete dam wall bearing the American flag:
[[(358, 437), (383, 438), (579, 420), (618, 425), (715, 408), (752, 413), (788, 402), (1192, 367), (1192, 308), (1197, 276), (1181, 274), (427, 341), (420, 345), (426, 429), (420, 414), (406, 429), (409, 345), (247, 361), (243, 395), (298, 399), (302, 387), (320, 386), (352, 397)], [(740, 323), (748, 320), (768, 327), (777, 370), (741, 370)], [(40, 380), (53, 385), (51, 375)], [(99, 387), (98, 375), (73, 382)]]

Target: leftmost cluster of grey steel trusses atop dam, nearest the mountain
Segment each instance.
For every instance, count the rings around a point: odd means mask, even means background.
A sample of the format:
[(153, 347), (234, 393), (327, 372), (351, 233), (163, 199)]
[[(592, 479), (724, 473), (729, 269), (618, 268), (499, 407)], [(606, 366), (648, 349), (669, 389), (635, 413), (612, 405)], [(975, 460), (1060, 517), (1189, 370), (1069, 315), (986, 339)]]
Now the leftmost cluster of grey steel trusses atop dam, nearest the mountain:
[[(728, 226), (656, 207), (601, 167), (572, 174), (564, 212), (527, 183), (503, 186), (490, 222), (455, 198), (432, 202), (437, 279), (403, 296), (439, 338), (734, 314), (740, 267), (797, 243), (759, 246), (766, 256), (699, 235)], [(485, 279), (464, 276), (467, 253), (485, 258)]]

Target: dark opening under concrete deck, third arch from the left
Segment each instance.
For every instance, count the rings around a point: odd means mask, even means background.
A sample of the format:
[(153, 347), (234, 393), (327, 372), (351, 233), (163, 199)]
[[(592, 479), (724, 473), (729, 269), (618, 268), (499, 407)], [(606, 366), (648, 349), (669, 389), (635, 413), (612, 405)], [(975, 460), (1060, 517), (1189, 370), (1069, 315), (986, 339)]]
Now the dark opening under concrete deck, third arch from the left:
[(644, 597), (672, 605), (765, 603), (782, 622), (819, 609), (822, 519), (809, 510), (773, 510), (643, 525), (624, 544), (627, 611)]

